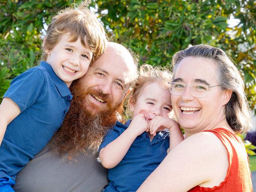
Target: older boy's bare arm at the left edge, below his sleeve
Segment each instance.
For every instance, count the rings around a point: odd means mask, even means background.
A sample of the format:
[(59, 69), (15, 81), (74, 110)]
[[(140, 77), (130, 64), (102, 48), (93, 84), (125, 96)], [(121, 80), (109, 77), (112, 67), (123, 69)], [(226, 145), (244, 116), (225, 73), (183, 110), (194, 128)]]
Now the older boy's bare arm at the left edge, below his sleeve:
[(13, 100), (8, 97), (3, 99), (0, 104), (0, 144), (4, 138), (7, 125), (20, 113), (19, 106)]

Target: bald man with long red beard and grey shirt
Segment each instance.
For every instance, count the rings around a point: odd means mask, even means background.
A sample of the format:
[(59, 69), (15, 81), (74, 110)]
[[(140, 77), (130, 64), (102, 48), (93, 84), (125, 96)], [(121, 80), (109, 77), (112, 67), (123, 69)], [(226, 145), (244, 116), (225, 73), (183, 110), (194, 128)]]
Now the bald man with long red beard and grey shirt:
[[(71, 85), (73, 100), (62, 128), (17, 175), (16, 192), (100, 192), (107, 170), (96, 161), (106, 132), (120, 119), (123, 100), (136, 79), (136, 62), (118, 43)], [(77, 161), (77, 162), (76, 162)]]

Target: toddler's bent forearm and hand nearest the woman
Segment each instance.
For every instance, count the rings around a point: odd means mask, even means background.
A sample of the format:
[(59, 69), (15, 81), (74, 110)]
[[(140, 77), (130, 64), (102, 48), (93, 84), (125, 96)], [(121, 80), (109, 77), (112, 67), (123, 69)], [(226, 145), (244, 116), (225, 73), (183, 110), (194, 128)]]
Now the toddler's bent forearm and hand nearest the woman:
[(173, 119), (164, 116), (156, 116), (149, 123), (150, 134), (154, 135), (159, 127), (167, 128), (170, 131), (170, 148), (168, 152), (184, 140), (179, 124)]

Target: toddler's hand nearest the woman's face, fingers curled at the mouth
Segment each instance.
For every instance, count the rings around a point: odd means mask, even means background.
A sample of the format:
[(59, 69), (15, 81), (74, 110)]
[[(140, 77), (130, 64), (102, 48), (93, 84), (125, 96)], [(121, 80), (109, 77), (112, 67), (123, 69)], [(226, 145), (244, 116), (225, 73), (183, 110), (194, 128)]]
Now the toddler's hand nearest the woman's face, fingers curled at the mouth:
[(169, 117), (156, 116), (149, 122), (149, 132), (155, 136), (156, 132), (166, 128), (171, 129), (173, 125), (178, 125), (178, 123)]

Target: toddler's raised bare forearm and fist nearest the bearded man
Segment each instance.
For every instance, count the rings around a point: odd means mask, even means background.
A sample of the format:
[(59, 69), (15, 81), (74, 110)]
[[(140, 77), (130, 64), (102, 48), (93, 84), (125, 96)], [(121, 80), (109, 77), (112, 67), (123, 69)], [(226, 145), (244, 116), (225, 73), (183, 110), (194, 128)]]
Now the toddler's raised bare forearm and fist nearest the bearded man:
[(101, 164), (105, 168), (114, 168), (123, 159), (136, 137), (148, 129), (148, 122), (144, 119), (143, 114), (138, 114), (131, 121), (129, 127), (109, 143), (106, 147), (102, 148), (99, 152)]

